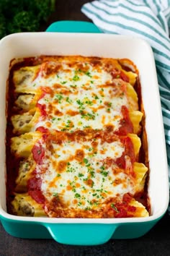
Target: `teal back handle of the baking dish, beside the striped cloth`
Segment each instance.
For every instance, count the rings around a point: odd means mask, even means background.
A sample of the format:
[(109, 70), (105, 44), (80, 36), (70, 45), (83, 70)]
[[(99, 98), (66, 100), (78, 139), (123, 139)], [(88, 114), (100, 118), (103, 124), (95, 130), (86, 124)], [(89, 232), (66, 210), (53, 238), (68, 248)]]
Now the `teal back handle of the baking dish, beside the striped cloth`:
[(66, 32), (66, 33), (102, 33), (99, 28), (91, 22), (77, 20), (62, 20), (53, 22), (46, 32)]

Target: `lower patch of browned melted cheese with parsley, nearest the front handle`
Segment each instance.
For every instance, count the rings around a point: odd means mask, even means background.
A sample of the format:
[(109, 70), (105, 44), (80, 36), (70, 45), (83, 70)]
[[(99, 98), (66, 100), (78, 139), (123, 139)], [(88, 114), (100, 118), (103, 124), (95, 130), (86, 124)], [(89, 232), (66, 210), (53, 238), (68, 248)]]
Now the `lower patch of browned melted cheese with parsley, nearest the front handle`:
[[(117, 165), (105, 166), (107, 158), (116, 160), (124, 151), (117, 140), (112, 143), (96, 140), (96, 148), (91, 142), (69, 142), (54, 145), (55, 153), (45, 151), (45, 162), (37, 167), (37, 176), (42, 179), (42, 192), (48, 200), (58, 195), (67, 207), (89, 208), (95, 200), (102, 203), (109, 197), (122, 198), (126, 192), (134, 194), (133, 180), (128, 174), (116, 172)], [(79, 151), (82, 158), (75, 156)], [(60, 165), (60, 163), (62, 163)], [(45, 173), (42, 170), (45, 169)], [(42, 174), (41, 174), (42, 173)]]

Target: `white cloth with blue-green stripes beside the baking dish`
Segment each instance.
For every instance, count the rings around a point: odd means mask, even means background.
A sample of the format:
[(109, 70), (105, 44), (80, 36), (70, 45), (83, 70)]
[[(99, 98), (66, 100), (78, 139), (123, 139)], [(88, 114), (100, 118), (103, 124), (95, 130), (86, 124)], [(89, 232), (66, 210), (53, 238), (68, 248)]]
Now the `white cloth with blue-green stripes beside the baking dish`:
[[(153, 49), (164, 119), (170, 183), (170, 0), (100, 0), (84, 4), (104, 33), (138, 35)], [(170, 214), (170, 203), (169, 203)]]

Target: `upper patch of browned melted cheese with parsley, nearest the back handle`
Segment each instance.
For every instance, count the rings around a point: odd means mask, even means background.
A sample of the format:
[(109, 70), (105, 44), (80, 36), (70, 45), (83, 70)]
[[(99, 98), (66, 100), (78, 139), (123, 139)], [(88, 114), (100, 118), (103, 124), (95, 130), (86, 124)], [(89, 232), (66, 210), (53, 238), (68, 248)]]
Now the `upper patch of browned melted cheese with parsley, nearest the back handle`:
[[(29, 76), (29, 79), (22, 83), (19, 80), (19, 85), (16, 85), (16, 91), (25, 88), (30, 91), (30, 88), (34, 88), (39, 94), (40, 90), (44, 92), (44, 88), (50, 88), (37, 101), (39, 106), (44, 106), (46, 116), (38, 119), (30, 131), (35, 131), (37, 127), (69, 131), (86, 127), (103, 129), (110, 124), (117, 131), (123, 117), (122, 106), (127, 106), (130, 111), (138, 108), (138, 96), (133, 87), (119, 76), (113, 79), (102, 65), (96, 69), (86, 62), (79, 69), (78, 65), (72, 67), (70, 63), (63, 63), (61, 67), (62, 69), (59, 68), (56, 73), (46, 77), (42, 64), (33, 81)], [(14, 80), (16, 76), (17, 74), (14, 75)], [(17, 118), (18, 115), (13, 117), (14, 120)]]

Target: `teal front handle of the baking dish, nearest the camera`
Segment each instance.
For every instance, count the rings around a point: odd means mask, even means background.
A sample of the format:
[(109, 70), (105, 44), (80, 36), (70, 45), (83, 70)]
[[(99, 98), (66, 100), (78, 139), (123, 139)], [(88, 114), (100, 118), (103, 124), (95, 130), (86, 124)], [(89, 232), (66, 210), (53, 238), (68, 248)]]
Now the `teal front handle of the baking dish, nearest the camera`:
[(97, 245), (112, 238), (119, 224), (102, 223), (42, 223), (53, 239), (61, 244)]

